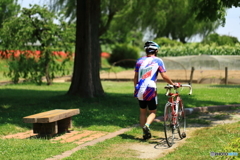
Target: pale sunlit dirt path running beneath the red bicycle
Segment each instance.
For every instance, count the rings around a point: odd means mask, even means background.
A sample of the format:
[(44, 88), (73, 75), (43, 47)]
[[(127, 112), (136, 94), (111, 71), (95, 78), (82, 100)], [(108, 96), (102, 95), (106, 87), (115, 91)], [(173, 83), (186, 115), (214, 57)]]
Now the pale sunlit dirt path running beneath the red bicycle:
[[(218, 120), (213, 117), (222, 117), (227, 119)], [(190, 124), (186, 129), (187, 138), (179, 139), (178, 135), (176, 134), (175, 144), (169, 148), (164, 138), (164, 133), (160, 135), (160, 138), (151, 139), (149, 140), (148, 144), (132, 144), (129, 146), (125, 146), (125, 148), (129, 148), (135, 150), (138, 153), (137, 158), (140, 159), (157, 159), (164, 157), (168, 153), (173, 152), (176, 148), (182, 146), (186, 139), (191, 138), (193, 133), (198, 129), (203, 129), (205, 127), (213, 127), (216, 125), (227, 124), (227, 123), (234, 123), (240, 121), (240, 110), (235, 111), (224, 111), (224, 112), (215, 112), (215, 113), (204, 113), (199, 115), (198, 118), (203, 118), (206, 121), (211, 121), (210, 125), (203, 125), (203, 124)]]

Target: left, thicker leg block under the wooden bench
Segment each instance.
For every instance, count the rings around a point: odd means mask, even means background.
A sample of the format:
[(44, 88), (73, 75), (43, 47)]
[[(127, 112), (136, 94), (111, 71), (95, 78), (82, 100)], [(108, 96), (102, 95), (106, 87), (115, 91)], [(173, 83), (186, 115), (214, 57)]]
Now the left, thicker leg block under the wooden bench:
[(58, 133), (57, 122), (52, 123), (33, 123), (33, 133), (53, 135)]

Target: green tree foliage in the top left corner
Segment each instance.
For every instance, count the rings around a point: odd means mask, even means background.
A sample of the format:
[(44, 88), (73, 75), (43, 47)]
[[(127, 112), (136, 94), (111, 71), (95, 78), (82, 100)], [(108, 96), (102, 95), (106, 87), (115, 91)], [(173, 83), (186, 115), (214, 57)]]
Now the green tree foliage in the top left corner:
[(17, 0), (1, 0), (0, 1), (0, 28), (4, 20), (15, 16), (20, 10)]

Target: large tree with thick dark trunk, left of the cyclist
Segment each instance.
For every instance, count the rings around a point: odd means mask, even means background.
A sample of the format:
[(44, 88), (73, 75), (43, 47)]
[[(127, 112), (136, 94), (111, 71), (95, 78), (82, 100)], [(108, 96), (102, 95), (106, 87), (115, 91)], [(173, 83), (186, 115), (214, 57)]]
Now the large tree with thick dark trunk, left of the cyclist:
[(103, 95), (99, 75), (101, 52), (99, 37), (108, 30), (113, 16), (128, 1), (52, 0), (52, 2), (56, 6), (55, 10), (66, 8), (66, 16), (70, 18), (70, 22), (76, 20), (77, 24), (74, 70), (67, 94), (81, 97)]

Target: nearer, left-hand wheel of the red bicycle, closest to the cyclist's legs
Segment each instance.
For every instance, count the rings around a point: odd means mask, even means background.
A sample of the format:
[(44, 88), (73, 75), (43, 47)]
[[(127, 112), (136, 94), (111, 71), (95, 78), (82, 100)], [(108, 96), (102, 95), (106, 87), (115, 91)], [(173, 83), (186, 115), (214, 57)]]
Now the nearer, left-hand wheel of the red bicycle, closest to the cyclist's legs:
[(164, 132), (167, 145), (171, 147), (174, 143), (174, 126), (172, 124), (171, 105), (166, 105), (164, 109)]

